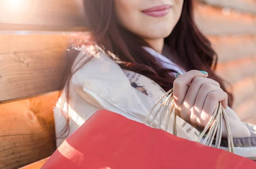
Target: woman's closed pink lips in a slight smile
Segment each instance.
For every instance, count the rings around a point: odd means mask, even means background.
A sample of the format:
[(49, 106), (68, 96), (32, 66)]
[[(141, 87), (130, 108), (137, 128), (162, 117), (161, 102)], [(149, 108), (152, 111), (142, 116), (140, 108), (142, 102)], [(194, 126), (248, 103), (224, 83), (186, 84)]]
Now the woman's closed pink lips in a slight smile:
[(151, 17), (164, 17), (169, 14), (171, 8), (171, 5), (161, 5), (145, 9), (142, 12)]

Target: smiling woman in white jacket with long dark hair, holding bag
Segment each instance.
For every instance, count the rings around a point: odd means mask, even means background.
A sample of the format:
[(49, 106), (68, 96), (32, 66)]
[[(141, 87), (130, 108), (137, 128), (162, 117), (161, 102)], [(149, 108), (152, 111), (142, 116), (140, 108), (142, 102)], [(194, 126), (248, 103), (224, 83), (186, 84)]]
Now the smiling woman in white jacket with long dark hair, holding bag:
[(81, 52), (55, 108), (57, 146), (99, 109), (143, 122), (173, 88), (178, 136), (196, 140), (192, 126), (204, 128), (221, 101), (236, 153), (256, 157), (256, 132), (230, 108), (232, 95), (214, 73), (217, 57), (195, 25), (192, 0), (84, 0), (84, 8), (90, 40), (79, 37)]

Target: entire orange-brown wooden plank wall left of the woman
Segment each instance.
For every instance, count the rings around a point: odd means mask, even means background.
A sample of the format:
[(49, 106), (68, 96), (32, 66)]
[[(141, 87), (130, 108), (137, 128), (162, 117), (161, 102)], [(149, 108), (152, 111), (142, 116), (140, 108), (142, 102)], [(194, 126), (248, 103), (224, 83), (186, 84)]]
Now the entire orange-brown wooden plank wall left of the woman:
[(52, 112), (74, 58), (69, 37), (86, 30), (77, 2), (1, 1), (0, 169), (23, 167), (56, 149)]

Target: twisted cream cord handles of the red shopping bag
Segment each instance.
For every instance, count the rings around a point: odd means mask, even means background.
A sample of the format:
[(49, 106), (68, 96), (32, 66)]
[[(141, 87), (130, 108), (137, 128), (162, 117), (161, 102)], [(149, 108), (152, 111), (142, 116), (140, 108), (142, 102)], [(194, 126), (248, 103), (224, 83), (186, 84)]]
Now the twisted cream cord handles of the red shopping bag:
[[(149, 123), (150, 127), (153, 127), (153, 124), (156, 120), (157, 115), (160, 114), (160, 118), (157, 121), (157, 129), (160, 129), (160, 126), (162, 126), (163, 121), (166, 118), (166, 123), (164, 130), (167, 131), (168, 125), (169, 125), (169, 119), (172, 115), (172, 112), (174, 112), (174, 123), (173, 123), (173, 135), (177, 136), (177, 124), (176, 124), (176, 113), (173, 111), (175, 107), (174, 98), (173, 98), (173, 89), (169, 90), (164, 94), (153, 106), (151, 109), (151, 112), (148, 114), (146, 120), (144, 123), (146, 124), (148, 122), (149, 117), (152, 116), (152, 112), (157, 107), (157, 105), (163, 100), (163, 103), (159, 106), (156, 113), (152, 117), (151, 122)], [(230, 123), (227, 117), (227, 113), (225, 112), (225, 109), (223, 108), (221, 102), (219, 102), (218, 106), (216, 107), (211, 119), (207, 123), (207, 126), (204, 128), (204, 130), (201, 132), (201, 134), (198, 137), (197, 142), (202, 143), (207, 146), (211, 146), (212, 142), (215, 138), (215, 147), (220, 148), (221, 145), (221, 136), (222, 136), (222, 122), (224, 121), (225, 126), (227, 128), (227, 142), (228, 142), (228, 151), (234, 153), (234, 144), (233, 144), (233, 137), (232, 132), (230, 129)], [(205, 137), (204, 137), (205, 136)]]

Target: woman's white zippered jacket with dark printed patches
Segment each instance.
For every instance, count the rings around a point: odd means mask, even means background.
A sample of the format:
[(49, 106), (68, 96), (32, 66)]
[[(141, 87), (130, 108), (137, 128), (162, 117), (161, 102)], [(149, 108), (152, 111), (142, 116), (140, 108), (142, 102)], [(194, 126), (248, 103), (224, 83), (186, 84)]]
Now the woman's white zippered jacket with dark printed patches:
[[(63, 134), (61, 131), (67, 124), (64, 115), (70, 119), (68, 135), (75, 132), (99, 109), (107, 109), (143, 123), (156, 101), (165, 93), (148, 77), (121, 69), (104, 52), (95, 53), (95, 48), (92, 46), (86, 50), (94, 57), (73, 75), (70, 83), (69, 105), (66, 103), (65, 92), (63, 92), (54, 109), (57, 146), (65, 139), (60, 138), (60, 134)], [(85, 53), (80, 52), (73, 68), (79, 66), (78, 60), (87, 57)], [(64, 112), (61, 112), (61, 109)], [(67, 109), (69, 109), (68, 115)], [(173, 116), (168, 127), (170, 133), (172, 133), (172, 124)], [(256, 135), (256, 126), (246, 125), (250, 128), (250, 132)], [(177, 134), (179, 137), (195, 141), (199, 132), (178, 117)], [(256, 137), (234, 138), (233, 140), (236, 154), (249, 158), (256, 157)], [(227, 149), (225, 144), (224, 139), (221, 143), (222, 149)]]

